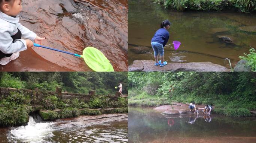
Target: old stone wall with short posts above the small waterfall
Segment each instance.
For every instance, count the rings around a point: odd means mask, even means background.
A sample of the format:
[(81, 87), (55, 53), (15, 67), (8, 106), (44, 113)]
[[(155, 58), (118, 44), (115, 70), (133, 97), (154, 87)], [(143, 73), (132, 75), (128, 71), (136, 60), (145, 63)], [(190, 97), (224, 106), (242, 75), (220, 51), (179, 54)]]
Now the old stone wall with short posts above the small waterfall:
[[(82, 99), (84, 102), (89, 102), (92, 96), (107, 96), (110, 100), (117, 100), (120, 96), (119, 93), (116, 93), (115, 96), (111, 95), (95, 95), (95, 92), (90, 91), (88, 95), (86, 94), (77, 94), (77, 93), (67, 93), (62, 92), (60, 87), (56, 88), (55, 92), (52, 91), (41, 91), (38, 89), (29, 90), (29, 89), (14, 89), (14, 88), (0, 88), (0, 100), (4, 99), (6, 96), (10, 94), (10, 92), (23, 92), (24, 95), (30, 96), (31, 105), (40, 105), (42, 100), (49, 95), (56, 95), (61, 99)], [(127, 98), (127, 97), (124, 97)]]

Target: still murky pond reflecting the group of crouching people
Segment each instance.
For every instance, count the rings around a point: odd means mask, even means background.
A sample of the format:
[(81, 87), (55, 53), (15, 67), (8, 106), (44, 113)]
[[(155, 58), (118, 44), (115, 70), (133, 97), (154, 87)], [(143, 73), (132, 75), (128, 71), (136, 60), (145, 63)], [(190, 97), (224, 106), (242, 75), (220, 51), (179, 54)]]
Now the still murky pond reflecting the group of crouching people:
[(221, 115), (164, 116), (153, 108), (129, 107), (129, 143), (255, 143), (256, 118)]

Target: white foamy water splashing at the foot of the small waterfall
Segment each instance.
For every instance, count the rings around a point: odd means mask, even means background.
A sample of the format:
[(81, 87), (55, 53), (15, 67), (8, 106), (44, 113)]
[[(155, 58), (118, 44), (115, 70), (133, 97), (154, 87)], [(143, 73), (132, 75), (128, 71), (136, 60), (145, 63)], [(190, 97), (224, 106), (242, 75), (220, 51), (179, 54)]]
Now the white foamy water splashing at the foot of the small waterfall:
[(54, 136), (53, 124), (36, 123), (30, 116), (28, 125), (12, 129), (8, 139), (12, 142), (47, 143), (44, 139)]

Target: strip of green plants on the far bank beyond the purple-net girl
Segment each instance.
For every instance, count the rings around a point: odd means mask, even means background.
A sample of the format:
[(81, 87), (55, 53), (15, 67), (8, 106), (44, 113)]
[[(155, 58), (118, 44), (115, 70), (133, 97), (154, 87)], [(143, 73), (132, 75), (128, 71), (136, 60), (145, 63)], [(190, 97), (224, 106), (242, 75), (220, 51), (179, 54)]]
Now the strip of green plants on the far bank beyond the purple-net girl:
[(250, 13), (256, 10), (255, 0), (154, 0), (165, 8), (172, 10), (201, 10), (220, 11), (225, 9), (236, 9), (240, 12)]

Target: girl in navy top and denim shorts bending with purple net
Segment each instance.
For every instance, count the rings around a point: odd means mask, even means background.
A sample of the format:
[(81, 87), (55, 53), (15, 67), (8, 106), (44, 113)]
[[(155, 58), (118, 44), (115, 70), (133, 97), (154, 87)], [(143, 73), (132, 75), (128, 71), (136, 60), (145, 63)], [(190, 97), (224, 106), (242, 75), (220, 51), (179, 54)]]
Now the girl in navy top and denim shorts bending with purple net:
[[(167, 64), (167, 61), (164, 61), (164, 47), (168, 42), (169, 39), (169, 32), (168, 29), (170, 28), (171, 22), (168, 20), (164, 20), (161, 23), (161, 28), (156, 31), (155, 35), (151, 39), (151, 45), (154, 50), (154, 57), (155, 57), (155, 66), (160, 65), (160, 67)], [(161, 60), (158, 61), (158, 53), (160, 55)]]

